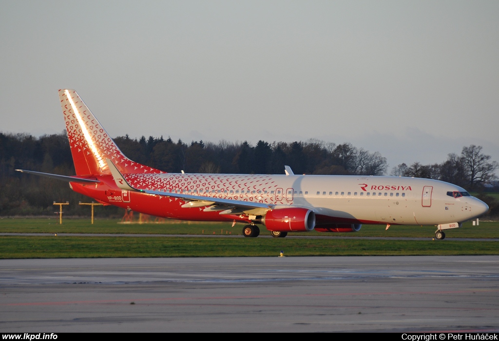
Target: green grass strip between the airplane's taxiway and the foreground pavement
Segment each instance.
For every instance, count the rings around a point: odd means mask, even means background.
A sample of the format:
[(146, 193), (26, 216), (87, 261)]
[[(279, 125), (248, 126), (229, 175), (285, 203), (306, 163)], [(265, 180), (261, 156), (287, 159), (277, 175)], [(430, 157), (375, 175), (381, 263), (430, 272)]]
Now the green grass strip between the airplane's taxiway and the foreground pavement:
[(498, 255), (494, 241), (2, 236), (0, 258)]

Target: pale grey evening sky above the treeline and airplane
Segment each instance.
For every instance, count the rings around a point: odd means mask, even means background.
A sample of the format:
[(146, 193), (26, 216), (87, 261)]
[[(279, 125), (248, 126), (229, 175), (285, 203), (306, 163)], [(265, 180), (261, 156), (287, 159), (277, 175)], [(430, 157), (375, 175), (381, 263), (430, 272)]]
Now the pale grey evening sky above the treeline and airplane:
[(499, 1), (0, 0), (0, 131), (350, 142), (499, 161)]

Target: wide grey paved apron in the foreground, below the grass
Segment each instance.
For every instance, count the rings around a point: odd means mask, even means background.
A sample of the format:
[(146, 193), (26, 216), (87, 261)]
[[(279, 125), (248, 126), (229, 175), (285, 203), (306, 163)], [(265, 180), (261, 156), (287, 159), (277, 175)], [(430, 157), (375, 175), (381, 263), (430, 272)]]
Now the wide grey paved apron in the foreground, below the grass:
[(3, 333), (499, 331), (499, 256), (0, 260), (0, 288)]

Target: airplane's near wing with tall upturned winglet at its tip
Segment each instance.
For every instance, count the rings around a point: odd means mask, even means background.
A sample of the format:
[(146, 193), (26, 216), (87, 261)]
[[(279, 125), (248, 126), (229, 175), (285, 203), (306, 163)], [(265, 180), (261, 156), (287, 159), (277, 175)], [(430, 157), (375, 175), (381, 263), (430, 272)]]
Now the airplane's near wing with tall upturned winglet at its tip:
[(131, 191), (136, 191), (140, 193), (147, 193), (152, 195), (170, 196), (175, 198), (180, 198), (186, 201), (182, 207), (204, 207), (205, 210), (209, 211), (221, 211), (220, 214), (237, 214), (237, 213), (248, 213), (253, 215), (262, 215), (269, 209), (275, 207), (274, 204), (266, 204), (262, 202), (251, 202), (243, 200), (232, 200), (216, 198), (211, 196), (200, 196), (200, 195), (190, 195), (183, 193), (172, 193), (163, 192), (159, 190), (149, 190), (149, 189), (138, 189), (130, 186), (130, 184), (125, 180), (123, 175), (118, 171), (113, 162), (106, 159), (106, 163), (113, 175), (114, 182), (121, 189), (127, 189)]

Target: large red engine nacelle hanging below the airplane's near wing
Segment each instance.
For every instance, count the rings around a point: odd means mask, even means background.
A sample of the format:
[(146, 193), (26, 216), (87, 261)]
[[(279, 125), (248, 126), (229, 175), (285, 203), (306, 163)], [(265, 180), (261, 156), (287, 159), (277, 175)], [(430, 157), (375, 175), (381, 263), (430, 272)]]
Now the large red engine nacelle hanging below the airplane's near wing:
[(269, 231), (311, 231), (315, 227), (315, 213), (306, 208), (278, 208), (267, 211), (261, 222)]

